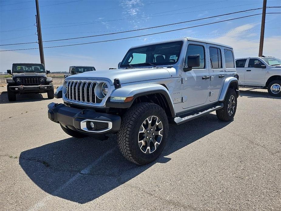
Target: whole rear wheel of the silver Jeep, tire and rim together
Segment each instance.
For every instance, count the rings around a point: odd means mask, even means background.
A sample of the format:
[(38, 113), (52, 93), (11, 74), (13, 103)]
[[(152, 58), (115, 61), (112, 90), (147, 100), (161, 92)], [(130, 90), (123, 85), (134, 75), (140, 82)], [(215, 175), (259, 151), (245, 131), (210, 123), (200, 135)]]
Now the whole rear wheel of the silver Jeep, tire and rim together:
[(223, 104), (223, 108), (216, 110), (217, 117), (222, 121), (231, 121), (234, 118), (237, 107), (237, 95), (234, 89), (228, 89)]

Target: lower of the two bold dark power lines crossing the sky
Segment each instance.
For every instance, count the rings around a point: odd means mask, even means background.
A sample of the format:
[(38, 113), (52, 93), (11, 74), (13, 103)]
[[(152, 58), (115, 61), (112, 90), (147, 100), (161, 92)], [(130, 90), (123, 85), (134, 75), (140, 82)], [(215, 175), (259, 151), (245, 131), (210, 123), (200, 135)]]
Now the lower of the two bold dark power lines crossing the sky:
[[(254, 15), (249, 15), (249, 16), (243, 16), (243, 17), (239, 17), (239, 18), (232, 18), (232, 19), (227, 19), (227, 20), (222, 20), (222, 21), (216, 21), (216, 22), (207, 23), (207, 24), (201, 24), (201, 25), (197, 25), (197, 26), (190, 26), (190, 27), (185, 27), (185, 28), (181, 28), (181, 29), (173, 29), (173, 30), (164, 31), (164, 32), (150, 33), (150, 34), (145, 34), (145, 35), (131, 36), (131, 37), (125, 37), (125, 38), (112, 39), (112, 40), (102, 40), (102, 41), (89, 42), (89, 43), (79, 43), (79, 44), (71, 44), (71, 45), (51, 46), (51, 47), (44, 47), (44, 48), (67, 47), (67, 46), (85, 45), (85, 44), (93, 44), (93, 43), (104, 43), (104, 42), (110, 42), (110, 41), (116, 41), (116, 40), (125, 40), (125, 39), (130, 39), (130, 38), (136, 38), (136, 37), (142, 37), (142, 36), (149, 36), (149, 35), (155, 35), (155, 34), (179, 31), (179, 30), (183, 30), (183, 29), (190, 29), (190, 28), (195, 28), (195, 27), (199, 27), (199, 26), (207, 26), (207, 25), (211, 25), (211, 24), (215, 24), (215, 23), (221, 23), (221, 22), (226, 22), (226, 21), (231, 21), (231, 20), (236, 20), (236, 19), (241, 19), (241, 18), (251, 17), (251, 16), (257, 16), (257, 15), (261, 15), (261, 14), (262, 13), (254, 14)], [(266, 13), (266, 14), (281, 14), (281, 12), (269, 12), (269, 13)], [(26, 48), (26, 49), (15, 49), (15, 50), (32, 50), (32, 49), (38, 49), (38, 48)], [(14, 50), (0, 50), (0, 51), (14, 51)]]

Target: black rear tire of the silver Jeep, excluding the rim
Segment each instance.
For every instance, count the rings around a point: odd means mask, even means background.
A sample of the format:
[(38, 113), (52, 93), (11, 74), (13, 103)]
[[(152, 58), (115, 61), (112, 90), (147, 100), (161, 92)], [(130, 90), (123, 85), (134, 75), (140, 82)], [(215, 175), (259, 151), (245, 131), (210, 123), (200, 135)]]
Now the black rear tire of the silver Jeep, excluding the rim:
[[(232, 98), (231, 96), (234, 96), (235, 107), (234, 107), (233, 113), (231, 113), (231, 115), (230, 115), (228, 113), (228, 106), (229, 106), (229, 100), (230, 100), (230, 98)], [(234, 91), (234, 89), (229, 88), (227, 93), (226, 93), (224, 102), (223, 102), (223, 108), (216, 110), (218, 119), (221, 120), (221, 121), (225, 121), (225, 122), (229, 122), (229, 121), (233, 120), (235, 112), (236, 112), (236, 108), (237, 108), (236, 92)]]

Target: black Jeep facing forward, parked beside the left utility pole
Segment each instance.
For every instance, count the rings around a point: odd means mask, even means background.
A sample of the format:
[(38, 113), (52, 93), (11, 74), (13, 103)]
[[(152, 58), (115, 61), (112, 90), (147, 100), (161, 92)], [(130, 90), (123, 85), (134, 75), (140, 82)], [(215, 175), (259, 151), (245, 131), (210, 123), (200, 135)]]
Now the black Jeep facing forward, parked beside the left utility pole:
[(9, 101), (15, 101), (17, 94), (47, 93), (49, 99), (54, 98), (53, 79), (47, 77), (49, 70), (45, 71), (43, 64), (15, 63), (11, 78), (7, 78), (7, 92)]

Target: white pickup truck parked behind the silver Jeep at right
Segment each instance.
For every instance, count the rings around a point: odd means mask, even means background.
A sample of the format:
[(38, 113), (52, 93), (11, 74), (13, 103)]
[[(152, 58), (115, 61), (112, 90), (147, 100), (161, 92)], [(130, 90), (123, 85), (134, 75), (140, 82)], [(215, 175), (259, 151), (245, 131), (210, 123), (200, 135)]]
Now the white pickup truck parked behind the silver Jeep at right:
[(274, 57), (236, 59), (240, 87), (267, 89), (272, 96), (281, 96), (281, 60)]

